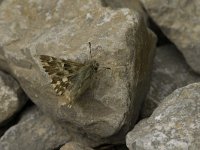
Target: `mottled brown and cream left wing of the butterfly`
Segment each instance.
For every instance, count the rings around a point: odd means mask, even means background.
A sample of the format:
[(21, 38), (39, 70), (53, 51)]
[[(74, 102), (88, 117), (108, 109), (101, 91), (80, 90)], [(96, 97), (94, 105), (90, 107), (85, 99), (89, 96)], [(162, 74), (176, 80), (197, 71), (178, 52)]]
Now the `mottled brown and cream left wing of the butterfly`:
[(70, 60), (58, 59), (52, 56), (40, 55), (42, 66), (52, 81), (51, 84), (57, 93), (62, 95), (65, 90), (70, 90), (73, 86), (71, 80), (77, 75), (84, 64)]

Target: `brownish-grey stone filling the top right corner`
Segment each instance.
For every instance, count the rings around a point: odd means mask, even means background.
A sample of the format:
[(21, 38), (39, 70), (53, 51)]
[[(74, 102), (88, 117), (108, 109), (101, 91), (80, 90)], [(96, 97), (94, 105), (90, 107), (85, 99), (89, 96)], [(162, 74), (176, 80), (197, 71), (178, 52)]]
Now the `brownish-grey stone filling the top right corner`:
[(200, 73), (200, 1), (141, 0), (152, 19)]

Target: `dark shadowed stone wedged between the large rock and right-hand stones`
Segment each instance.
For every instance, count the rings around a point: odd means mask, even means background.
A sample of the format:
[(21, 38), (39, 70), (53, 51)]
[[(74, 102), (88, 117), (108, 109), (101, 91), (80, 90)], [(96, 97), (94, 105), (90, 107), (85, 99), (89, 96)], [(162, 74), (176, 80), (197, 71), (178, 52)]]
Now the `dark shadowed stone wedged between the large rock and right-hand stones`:
[(200, 76), (191, 70), (175, 46), (158, 47), (150, 90), (141, 117), (149, 117), (162, 100), (175, 89), (199, 81)]

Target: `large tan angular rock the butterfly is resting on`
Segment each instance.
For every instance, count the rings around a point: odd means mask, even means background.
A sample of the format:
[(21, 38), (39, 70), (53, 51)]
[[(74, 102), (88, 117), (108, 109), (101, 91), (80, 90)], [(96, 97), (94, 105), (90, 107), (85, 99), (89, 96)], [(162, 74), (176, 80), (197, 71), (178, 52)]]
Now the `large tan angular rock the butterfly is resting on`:
[[(112, 10), (93, 0), (3, 1), (0, 67), (49, 116), (70, 122), (91, 139), (115, 134), (117, 141), (136, 122), (149, 88), (156, 38), (141, 18), (137, 11)], [(93, 58), (111, 70), (99, 71), (72, 108), (60, 107), (65, 99), (56, 96), (37, 56), (84, 62), (89, 41)]]

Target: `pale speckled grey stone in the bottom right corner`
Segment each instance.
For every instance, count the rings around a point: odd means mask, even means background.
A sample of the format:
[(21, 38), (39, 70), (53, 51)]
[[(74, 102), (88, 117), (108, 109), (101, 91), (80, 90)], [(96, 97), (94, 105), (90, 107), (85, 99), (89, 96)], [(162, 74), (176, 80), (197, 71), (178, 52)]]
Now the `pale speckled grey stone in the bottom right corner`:
[(177, 89), (126, 137), (130, 150), (200, 149), (200, 83)]

